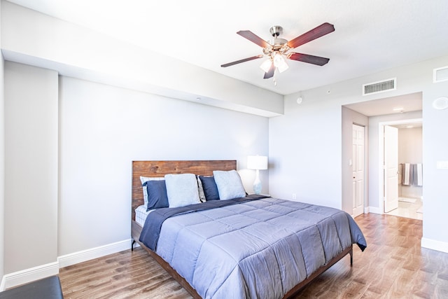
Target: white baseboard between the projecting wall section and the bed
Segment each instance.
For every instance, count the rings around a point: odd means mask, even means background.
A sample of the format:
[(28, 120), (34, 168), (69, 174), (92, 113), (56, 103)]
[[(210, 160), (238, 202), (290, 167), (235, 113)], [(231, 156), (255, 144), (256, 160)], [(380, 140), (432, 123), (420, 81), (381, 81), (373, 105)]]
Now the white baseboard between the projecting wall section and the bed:
[(131, 248), (131, 239), (127, 239), (124, 241), (107, 244), (104, 246), (98, 246), (92, 249), (66, 254), (65, 256), (59, 256), (57, 260), (59, 261), (59, 268), (62, 268), (77, 263), (83, 263), (86, 260), (92, 260), (94, 258), (107, 256), (108, 254), (117, 253), (130, 248)]

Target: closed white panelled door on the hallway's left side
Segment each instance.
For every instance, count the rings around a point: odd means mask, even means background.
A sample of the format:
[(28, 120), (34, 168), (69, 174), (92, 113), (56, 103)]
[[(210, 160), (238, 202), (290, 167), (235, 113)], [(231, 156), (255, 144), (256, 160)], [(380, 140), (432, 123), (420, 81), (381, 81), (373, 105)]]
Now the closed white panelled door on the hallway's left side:
[(353, 125), (353, 217), (364, 213), (364, 127)]

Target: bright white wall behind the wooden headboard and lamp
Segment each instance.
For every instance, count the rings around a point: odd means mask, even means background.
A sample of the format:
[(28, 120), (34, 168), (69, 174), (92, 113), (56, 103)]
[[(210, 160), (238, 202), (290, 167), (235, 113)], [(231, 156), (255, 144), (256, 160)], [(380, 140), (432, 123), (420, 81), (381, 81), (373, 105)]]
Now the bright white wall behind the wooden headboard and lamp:
[[(60, 78), (59, 256), (130, 238), (132, 160), (268, 154), (268, 120), (75, 78)], [(267, 172), (260, 172), (267, 193)]]

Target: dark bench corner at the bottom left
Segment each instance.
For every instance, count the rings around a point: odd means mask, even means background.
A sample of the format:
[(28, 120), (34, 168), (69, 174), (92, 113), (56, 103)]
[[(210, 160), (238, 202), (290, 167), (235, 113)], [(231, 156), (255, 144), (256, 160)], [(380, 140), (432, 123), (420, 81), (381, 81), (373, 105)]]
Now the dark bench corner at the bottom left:
[(59, 299), (62, 295), (59, 277), (50, 276), (0, 292), (0, 299)]

